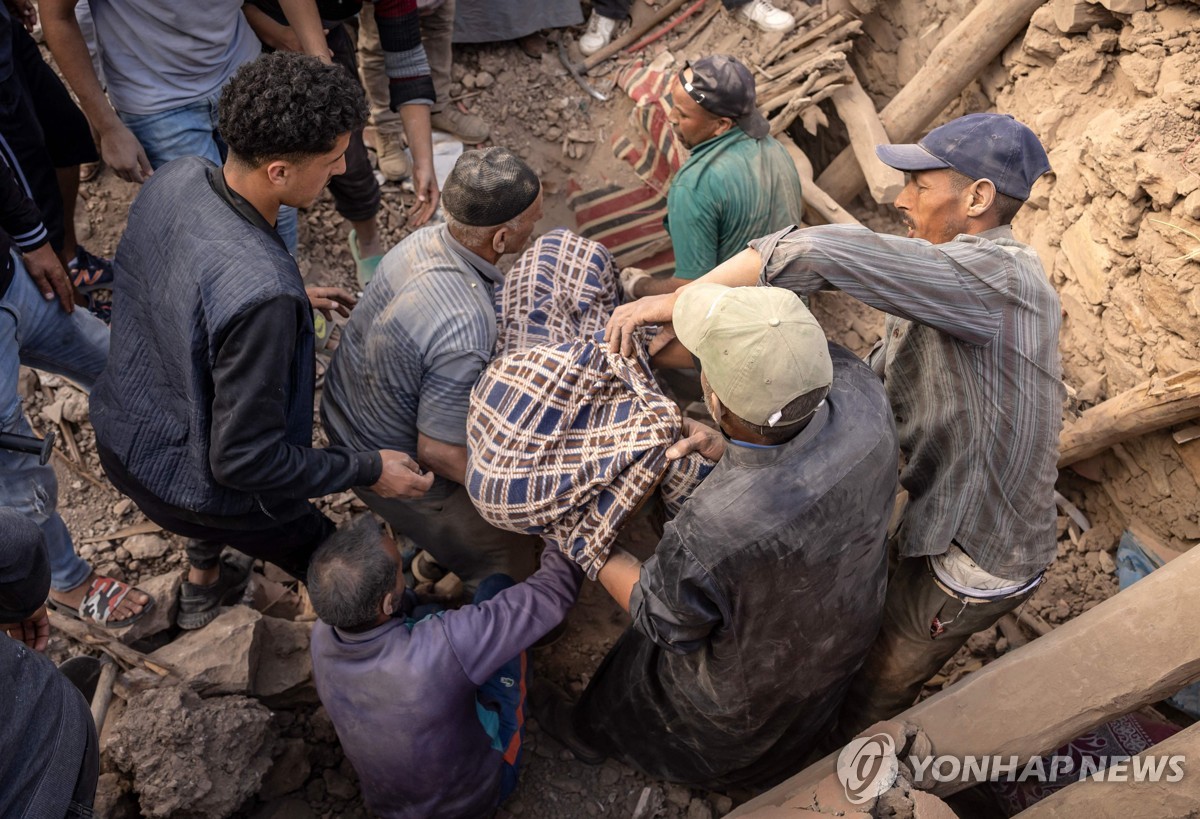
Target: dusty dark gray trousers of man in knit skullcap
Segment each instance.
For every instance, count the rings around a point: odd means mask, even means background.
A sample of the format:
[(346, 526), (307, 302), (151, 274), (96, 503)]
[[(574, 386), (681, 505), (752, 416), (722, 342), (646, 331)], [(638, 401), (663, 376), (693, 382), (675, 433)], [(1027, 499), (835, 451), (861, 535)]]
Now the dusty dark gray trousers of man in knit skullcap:
[(475, 512), (464, 486), (456, 485), (449, 497), (436, 501), (385, 498), (370, 489), (354, 491), (397, 534), (408, 537), (457, 574), (468, 596), (490, 575), (524, 580), (538, 568), (541, 539), (488, 524)]

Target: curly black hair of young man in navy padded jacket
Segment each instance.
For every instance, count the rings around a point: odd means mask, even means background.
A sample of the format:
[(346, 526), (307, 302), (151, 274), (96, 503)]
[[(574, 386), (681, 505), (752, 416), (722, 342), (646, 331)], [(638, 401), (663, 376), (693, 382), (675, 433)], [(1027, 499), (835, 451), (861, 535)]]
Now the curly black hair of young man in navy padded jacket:
[(252, 168), (329, 153), (367, 114), (362, 88), (346, 68), (282, 52), (238, 68), (217, 103), (221, 138)]

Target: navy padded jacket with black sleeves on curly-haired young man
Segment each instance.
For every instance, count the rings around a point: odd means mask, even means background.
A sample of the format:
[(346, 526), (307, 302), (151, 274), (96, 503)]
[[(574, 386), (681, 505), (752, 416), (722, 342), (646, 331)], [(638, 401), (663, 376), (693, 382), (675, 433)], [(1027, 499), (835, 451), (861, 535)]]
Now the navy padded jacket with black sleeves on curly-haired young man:
[(265, 528), (302, 514), (310, 497), (378, 480), (378, 453), (312, 449), (300, 270), (220, 168), (199, 157), (160, 168), (130, 209), (114, 264), (112, 353), (91, 422), (102, 458), (122, 467), (109, 470), (119, 489), (214, 525)]

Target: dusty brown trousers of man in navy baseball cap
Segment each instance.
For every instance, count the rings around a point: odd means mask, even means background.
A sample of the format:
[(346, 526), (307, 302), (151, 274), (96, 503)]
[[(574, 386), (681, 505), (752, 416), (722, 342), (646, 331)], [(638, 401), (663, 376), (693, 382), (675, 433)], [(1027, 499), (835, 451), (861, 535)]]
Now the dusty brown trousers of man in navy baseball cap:
[(906, 711), (922, 686), (972, 634), (995, 626), (1034, 591), (986, 603), (965, 602), (935, 581), (929, 558), (901, 558), (888, 580), (883, 624), (851, 682), (835, 739), (844, 743)]

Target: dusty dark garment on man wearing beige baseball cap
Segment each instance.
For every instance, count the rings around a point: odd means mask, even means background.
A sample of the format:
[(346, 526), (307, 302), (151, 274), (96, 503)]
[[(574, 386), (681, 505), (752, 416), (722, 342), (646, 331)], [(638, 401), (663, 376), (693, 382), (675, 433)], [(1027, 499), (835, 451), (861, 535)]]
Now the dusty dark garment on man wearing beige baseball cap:
[(583, 739), (648, 775), (772, 785), (830, 727), (883, 611), (896, 436), (883, 385), (830, 345), (826, 408), (731, 444), (666, 526), (632, 628), (580, 703)]

